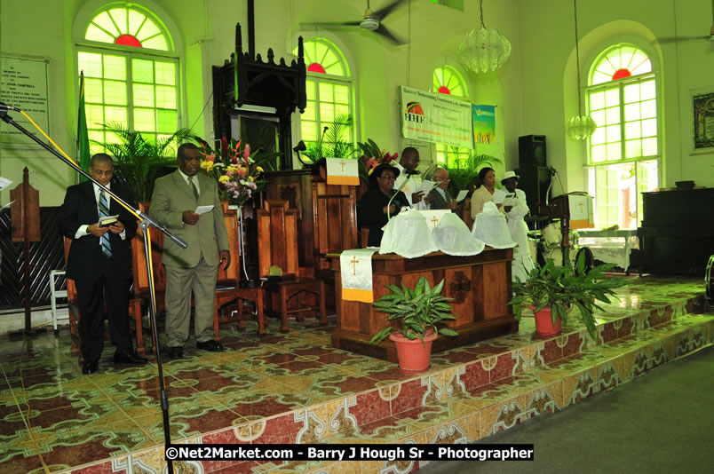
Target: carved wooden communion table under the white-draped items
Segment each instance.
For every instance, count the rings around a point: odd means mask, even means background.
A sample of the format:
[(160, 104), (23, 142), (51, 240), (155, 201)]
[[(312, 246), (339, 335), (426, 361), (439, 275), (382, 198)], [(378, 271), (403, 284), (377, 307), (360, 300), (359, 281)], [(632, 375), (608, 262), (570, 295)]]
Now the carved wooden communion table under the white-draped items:
[[(405, 258), (396, 254), (372, 256), (372, 284), (374, 300), (385, 296), (386, 285), (414, 288), (424, 275), (434, 286), (446, 279), (442, 295), (454, 298), (450, 304), (456, 320), (448, 323), (458, 332), (456, 337), (439, 336), (433, 342), (432, 352), (442, 352), (495, 336), (511, 334), (518, 330), (513, 317), (511, 300), (512, 249), (487, 247), (479, 255), (454, 257), (433, 252), (424, 257)], [(341, 271), (351, 272), (352, 267), (340, 268), (339, 254), (329, 254), (330, 269), (335, 272), (335, 301), (337, 303), (337, 329), (332, 345), (345, 351), (358, 352), (378, 359), (397, 361), (394, 343), (385, 339), (381, 344), (369, 344), (372, 336), (397, 321), (386, 320), (372, 304), (342, 299)]]

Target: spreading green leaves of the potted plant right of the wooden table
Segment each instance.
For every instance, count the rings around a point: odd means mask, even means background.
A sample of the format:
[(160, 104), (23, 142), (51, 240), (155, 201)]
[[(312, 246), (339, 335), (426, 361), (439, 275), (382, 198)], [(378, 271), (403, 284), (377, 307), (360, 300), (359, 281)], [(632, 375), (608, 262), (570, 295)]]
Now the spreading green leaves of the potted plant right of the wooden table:
[(615, 296), (615, 288), (628, 284), (627, 280), (606, 277), (605, 273), (614, 267), (614, 264), (598, 265), (587, 271), (583, 252), (578, 256), (575, 267), (569, 260), (566, 265), (557, 266), (549, 258), (545, 265), (536, 265), (525, 281), (517, 278), (513, 282), (515, 296), (509, 304), (512, 304), (517, 320), (520, 320), (523, 306), (532, 307), (534, 313), (550, 307), (553, 324), (558, 318), (567, 324), (568, 312), (577, 308), (585, 327), (595, 338), (592, 312), (595, 309), (605, 312), (596, 301), (609, 303), (609, 296)]

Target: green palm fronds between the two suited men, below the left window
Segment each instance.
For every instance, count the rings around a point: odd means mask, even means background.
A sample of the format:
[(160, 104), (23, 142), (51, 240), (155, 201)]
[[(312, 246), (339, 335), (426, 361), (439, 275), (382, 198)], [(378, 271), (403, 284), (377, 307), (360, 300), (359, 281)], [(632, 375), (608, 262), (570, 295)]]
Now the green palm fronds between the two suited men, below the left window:
[(121, 123), (104, 123), (102, 128), (114, 134), (118, 142), (91, 143), (114, 157), (115, 178), (131, 189), (138, 202), (151, 199), (156, 172), (161, 167), (177, 166), (177, 145), (195, 137), (191, 129), (179, 129), (171, 137), (147, 140), (139, 131), (129, 131)]

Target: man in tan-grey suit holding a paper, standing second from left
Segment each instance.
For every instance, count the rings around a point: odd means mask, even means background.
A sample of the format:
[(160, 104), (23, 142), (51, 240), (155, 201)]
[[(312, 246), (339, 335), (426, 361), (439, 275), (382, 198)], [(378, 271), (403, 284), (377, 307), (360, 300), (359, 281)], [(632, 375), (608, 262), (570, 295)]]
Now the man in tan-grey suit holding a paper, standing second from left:
[[(191, 320), (191, 291), (195, 301), (196, 347), (220, 352), (214, 340), (213, 312), (218, 265), (231, 263), (228, 233), (218, 197), (218, 184), (198, 174), (201, 159), (198, 147), (185, 143), (178, 147), (178, 170), (156, 180), (149, 216), (186, 241), (181, 249), (170, 239), (163, 241), (166, 265), (166, 336), (171, 359), (183, 357)], [(199, 215), (198, 206), (213, 206)]]

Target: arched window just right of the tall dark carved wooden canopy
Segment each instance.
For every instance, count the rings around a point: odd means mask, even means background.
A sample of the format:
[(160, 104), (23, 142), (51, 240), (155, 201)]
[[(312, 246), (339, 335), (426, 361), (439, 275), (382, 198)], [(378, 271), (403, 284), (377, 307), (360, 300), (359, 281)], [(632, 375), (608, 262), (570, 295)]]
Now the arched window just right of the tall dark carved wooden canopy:
[[(324, 38), (305, 41), (307, 106), (300, 115), (300, 136), (316, 142), (324, 127), (336, 119), (353, 116), (352, 79), (342, 51)], [(294, 54), (298, 54), (296, 47)], [(353, 125), (345, 128), (343, 139), (354, 142)]]

